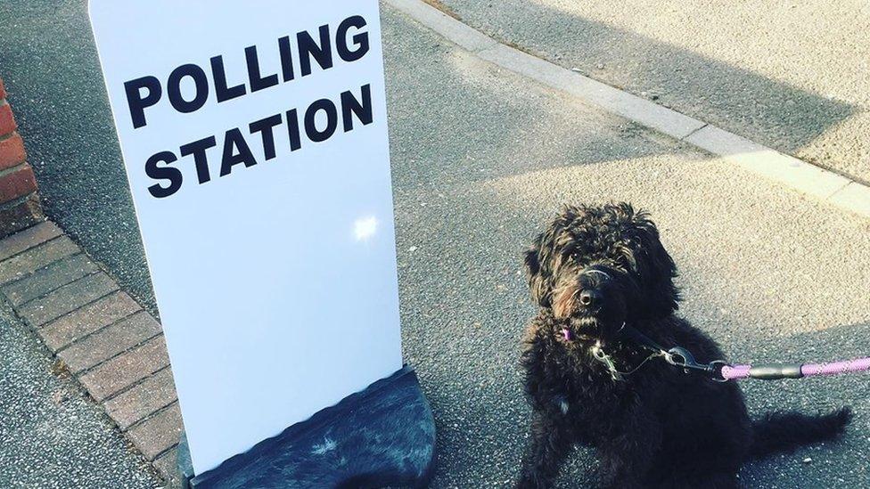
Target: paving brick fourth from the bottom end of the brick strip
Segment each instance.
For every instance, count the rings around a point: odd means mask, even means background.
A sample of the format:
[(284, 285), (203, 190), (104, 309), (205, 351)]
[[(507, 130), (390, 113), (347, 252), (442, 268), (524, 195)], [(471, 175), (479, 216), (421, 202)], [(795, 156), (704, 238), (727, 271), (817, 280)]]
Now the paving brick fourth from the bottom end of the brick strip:
[(169, 364), (163, 336), (153, 338), (124, 355), (116, 356), (78, 378), (97, 401), (132, 386)]

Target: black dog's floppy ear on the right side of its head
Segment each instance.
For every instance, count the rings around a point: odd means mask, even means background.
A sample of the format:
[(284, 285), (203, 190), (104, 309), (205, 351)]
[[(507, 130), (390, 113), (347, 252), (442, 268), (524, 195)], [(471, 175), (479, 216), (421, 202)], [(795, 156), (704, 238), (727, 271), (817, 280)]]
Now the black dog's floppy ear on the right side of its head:
[(659, 230), (650, 216), (640, 211), (635, 213), (633, 221), (637, 271), (644, 284), (644, 295), (649, 298), (646, 312), (651, 317), (667, 316), (677, 310), (680, 300), (679, 290), (674, 285), (677, 265), (661, 244)]

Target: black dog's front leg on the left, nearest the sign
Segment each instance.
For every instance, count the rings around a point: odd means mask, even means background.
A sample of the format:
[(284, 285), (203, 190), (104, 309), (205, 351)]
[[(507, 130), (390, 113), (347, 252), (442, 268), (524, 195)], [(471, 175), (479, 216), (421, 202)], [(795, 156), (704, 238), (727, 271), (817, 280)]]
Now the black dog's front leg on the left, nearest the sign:
[(531, 442), (523, 456), (517, 488), (552, 485), (562, 462), (568, 456), (570, 446), (570, 428), (563, 416), (554, 412), (536, 412), (531, 422)]

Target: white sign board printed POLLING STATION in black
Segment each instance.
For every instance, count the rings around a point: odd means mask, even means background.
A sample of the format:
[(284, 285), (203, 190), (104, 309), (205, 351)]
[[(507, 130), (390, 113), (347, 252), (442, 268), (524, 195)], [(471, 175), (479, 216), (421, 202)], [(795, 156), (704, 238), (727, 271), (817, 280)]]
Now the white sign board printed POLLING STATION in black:
[(91, 0), (197, 474), (402, 366), (377, 0)]

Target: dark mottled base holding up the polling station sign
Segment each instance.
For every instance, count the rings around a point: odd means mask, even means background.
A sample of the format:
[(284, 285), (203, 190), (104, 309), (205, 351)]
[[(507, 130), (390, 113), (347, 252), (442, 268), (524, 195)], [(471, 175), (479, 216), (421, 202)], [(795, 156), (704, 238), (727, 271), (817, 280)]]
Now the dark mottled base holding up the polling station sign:
[(407, 366), (203, 474), (184, 434), (178, 445), (184, 489), (423, 487), (434, 460), (431, 407)]

